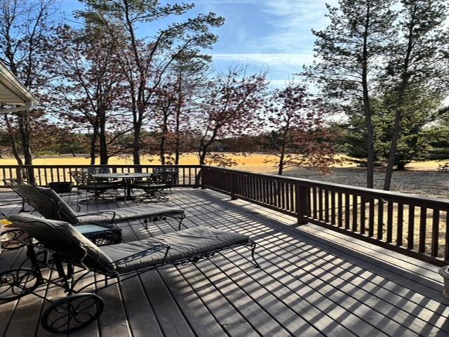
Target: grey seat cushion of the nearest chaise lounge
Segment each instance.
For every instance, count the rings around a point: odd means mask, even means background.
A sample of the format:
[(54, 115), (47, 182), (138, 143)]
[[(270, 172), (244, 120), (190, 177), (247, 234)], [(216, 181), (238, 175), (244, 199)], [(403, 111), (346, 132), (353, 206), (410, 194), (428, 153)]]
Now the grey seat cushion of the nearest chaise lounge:
[[(102, 246), (100, 249), (111, 260), (120, 260), (126, 256), (140, 253), (152, 246), (168, 244), (170, 249), (168, 250), (166, 262), (173, 262), (181, 258), (196, 256), (217, 249), (225, 249), (234, 244), (242, 244), (248, 242), (248, 239), (248, 236), (236, 232), (225, 232), (199, 226), (136, 242)], [(131, 262), (114, 265), (114, 267), (119, 273), (138, 270), (142, 267), (151, 267), (162, 263), (165, 253), (165, 250), (158, 251)]]

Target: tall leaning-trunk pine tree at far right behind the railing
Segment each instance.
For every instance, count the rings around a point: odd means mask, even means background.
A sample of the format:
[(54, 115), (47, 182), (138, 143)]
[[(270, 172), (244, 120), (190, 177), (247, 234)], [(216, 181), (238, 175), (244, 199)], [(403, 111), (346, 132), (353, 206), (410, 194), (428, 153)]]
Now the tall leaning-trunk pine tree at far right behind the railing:
[[(404, 117), (416, 110), (422, 98), (446, 91), (449, 35), (445, 29), (448, 5), (445, 0), (402, 0), (401, 20), (396, 25), (399, 36), (389, 47), (389, 65), (384, 88), (392, 93), (391, 110), (394, 128), (384, 180), (389, 190)], [(423, 100), (425, 102), (425, 100)], [(411, 107), (411, 108), (410, 108)]]

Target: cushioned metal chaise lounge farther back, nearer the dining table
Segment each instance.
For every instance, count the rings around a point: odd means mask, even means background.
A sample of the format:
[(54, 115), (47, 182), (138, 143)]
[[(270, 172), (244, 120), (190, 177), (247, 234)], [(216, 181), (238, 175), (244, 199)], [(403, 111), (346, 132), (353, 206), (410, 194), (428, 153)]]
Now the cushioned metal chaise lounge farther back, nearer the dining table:
[(62, 199), (58, 193), (49, 188), (38, 187), (31, 183), (18, 180), (4, 180), (13, 191), (27, 200), (36, 211), (47, 219), (67, 221), (72, 225), (112, 225), (133, 220), (142, 220), (145, 229), (149, 221), (173, 218), (178, 223), (178, 230), (185, 218), (183, 209), (166, 206), (145, 205), (127, 206), (121, 209), (107, 209), (104, 211), (77, 213)]

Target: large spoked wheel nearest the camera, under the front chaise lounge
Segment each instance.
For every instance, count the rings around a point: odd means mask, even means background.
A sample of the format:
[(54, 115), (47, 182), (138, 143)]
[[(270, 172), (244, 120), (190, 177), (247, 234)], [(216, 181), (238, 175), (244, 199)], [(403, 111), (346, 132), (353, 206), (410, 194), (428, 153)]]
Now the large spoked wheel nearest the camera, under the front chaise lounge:
[(105, 303), (94, 293), (77, 293), (55, 300), (41, 317), (43, 329), (53, 333), (72, 333), (100, 317)]

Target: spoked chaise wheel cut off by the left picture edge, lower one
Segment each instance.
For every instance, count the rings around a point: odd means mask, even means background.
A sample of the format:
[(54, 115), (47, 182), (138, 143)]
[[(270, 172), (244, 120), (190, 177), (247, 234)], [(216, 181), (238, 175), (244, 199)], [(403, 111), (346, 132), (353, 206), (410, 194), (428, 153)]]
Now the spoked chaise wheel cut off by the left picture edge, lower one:
[(30, 268), (0, 272), (0, 300), (15, 300), (32, 293), (41, 281), (41, 275)]

